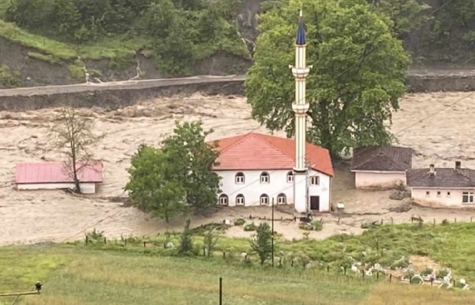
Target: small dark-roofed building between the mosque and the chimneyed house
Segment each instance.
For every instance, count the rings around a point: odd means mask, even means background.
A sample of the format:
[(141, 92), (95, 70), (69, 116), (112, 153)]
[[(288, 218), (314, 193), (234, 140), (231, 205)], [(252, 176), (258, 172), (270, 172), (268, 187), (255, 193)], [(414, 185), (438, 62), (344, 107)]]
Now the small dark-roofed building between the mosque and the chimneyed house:
[(356, 188), (394, 187), (406, 184), (413, 149), (397, 146), (361, 147), (353, 150), (351, 171)]

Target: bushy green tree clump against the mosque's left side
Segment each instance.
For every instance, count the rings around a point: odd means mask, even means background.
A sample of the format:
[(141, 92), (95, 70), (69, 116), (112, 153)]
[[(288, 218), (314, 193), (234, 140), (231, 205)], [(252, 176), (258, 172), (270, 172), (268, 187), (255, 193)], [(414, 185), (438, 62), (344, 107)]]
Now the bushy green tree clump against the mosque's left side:
[(167, 222), (188, 207), (217, 202), (219, 176), (212, 171), (218, 153), (206, 144), (202, 123), (176, 123), (162, 149), (142, 146), (132, 157), (125, 190), (140, 208)]

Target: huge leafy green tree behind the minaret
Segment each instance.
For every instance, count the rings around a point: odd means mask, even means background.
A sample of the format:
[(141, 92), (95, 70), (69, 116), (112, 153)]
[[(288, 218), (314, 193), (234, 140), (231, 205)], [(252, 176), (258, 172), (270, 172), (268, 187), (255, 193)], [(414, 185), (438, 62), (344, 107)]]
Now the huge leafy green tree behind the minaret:
[[(300, 3), (291, 0), (260, 16), (254, 65), (245, 88), (252, 116), (271, 130), (294, 134), (294, 43)], [(306, 21), (311, 127), (308, 140), (330, 150), (391, 141), (391, 111), (405, 92), (410, 64), (391, 21), (366, 0), (309, 0)]]

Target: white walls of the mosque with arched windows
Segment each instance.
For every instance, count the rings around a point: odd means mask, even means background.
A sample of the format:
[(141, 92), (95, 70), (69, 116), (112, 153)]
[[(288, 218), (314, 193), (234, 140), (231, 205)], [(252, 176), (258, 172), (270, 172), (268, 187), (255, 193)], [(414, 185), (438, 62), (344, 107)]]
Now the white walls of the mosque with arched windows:
[[(260, 205), (260, 196), (267, 194), (269, 196), (269, 203), (274, 198), (274, 203), (277, 204), (277, 196), (281, 193), (285, 194), (287, 204), (293, 204), (294, 198), (294, 184), (287, 182), (287, 173), (290, 170), (269, 170), (269, 183), (260, 183), (261, 170), (245, 170), (244, 184), (236, 184), (235, 176), (238, 171), (218, 170), (216, 173), (222, 177), (221, 190), (223, 194), (228, 195), (229, 206), (236, 205), (236, 196), (238, 194), (244, 195), (245, 205)], [(309, 176), (319, 176), (320, 184), (317, 186), (309, 186), (309, 196), (320, 196), (321, 211), (330, 210), (330, 176), (310, 170)], [(302, 183), (305, 183), (303, 181)]]

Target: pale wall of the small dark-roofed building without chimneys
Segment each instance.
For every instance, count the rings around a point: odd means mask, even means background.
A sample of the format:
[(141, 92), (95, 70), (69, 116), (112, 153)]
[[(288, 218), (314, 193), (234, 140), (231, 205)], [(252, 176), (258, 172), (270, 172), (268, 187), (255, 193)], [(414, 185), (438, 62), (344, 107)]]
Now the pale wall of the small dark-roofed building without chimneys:
[(355, 187), (392, 187), (402, 182), (406, 185), (406, 172), (354, 171)]

